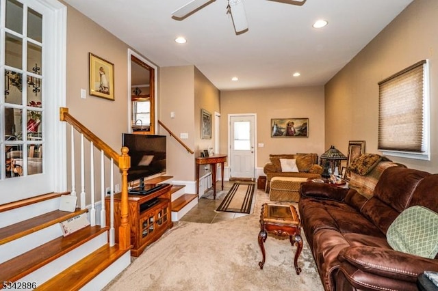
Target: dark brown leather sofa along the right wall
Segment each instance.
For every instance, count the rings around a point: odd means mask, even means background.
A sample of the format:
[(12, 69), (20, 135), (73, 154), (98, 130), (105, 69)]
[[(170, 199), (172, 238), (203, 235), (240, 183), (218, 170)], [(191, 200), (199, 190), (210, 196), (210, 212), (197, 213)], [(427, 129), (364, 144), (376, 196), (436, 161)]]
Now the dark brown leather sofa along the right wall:
[(417, 277), (438, 271), (435, 259), (395, 251), (389, 225), (405, 209), (438, 212), (438, 174), (389, 167), (367, 199), (354, 189), (303, 183), (299, 212), (325, 290), (417, 290)]

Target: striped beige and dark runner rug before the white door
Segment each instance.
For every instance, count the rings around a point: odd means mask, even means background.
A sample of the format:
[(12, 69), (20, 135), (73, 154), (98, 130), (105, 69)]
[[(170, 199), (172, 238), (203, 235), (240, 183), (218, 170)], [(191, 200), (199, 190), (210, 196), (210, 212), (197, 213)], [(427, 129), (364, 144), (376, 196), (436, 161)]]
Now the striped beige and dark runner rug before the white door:
[(254, 189), (254, 183), (234, 183), (216, 211), (250, 213)]

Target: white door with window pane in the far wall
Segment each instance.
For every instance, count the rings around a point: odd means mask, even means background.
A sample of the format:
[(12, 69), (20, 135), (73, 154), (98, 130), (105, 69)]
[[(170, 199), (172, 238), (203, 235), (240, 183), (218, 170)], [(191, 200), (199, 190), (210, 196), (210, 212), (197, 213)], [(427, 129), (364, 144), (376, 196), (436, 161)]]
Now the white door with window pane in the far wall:
[(230, 115), (230, 178), (255, 178), (255, 115)]

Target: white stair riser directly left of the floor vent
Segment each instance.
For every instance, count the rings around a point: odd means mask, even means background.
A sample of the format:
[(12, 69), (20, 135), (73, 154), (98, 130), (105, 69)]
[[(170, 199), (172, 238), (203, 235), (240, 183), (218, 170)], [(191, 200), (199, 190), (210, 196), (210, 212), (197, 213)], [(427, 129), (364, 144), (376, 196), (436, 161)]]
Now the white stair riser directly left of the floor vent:
[(61, 226), (59, 223), (55, 223), (42, 230), (38, 230), (38, 232), (33, 232), (27, 236), (12, 240), (10, 243), (0, 245), (0, 263), (6, 262), (17, 255), (21, 255), (60, 236), (62, 236)]

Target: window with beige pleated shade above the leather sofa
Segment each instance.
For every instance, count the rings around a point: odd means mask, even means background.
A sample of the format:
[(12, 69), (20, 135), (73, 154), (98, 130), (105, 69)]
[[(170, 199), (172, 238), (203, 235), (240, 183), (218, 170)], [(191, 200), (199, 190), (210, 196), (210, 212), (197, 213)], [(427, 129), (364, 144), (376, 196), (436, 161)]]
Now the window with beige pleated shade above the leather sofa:
[(429, 160), (428, 62), (419, 61), (379, 82), (378, 91), (378, 150)]

